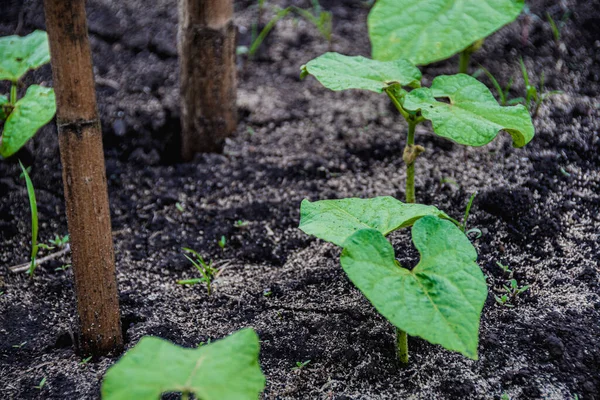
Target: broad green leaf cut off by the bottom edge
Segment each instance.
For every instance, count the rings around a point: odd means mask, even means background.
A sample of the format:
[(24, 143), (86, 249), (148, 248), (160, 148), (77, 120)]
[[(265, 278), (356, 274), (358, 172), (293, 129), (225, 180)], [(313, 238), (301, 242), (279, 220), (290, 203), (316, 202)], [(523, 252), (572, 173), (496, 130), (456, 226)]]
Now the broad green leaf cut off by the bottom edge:
[(156, 400), (167, 392), (194, 393), (202, 400), (258, 399), (265, 386), (259, 350), (252, 329), (198, 349), (143, 337), (109, 368), (102, 382), (102, 399)]

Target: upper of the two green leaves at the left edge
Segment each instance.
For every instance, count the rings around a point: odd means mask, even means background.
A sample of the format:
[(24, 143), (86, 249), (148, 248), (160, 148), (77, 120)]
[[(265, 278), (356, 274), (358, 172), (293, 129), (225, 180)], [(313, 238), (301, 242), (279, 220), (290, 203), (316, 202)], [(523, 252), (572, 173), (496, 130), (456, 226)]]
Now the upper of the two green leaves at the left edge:
[(50, 62), (48, 35), (34, 31), (27, 36), (0, 38), (0, 80), (16, 82), (30, 69)]

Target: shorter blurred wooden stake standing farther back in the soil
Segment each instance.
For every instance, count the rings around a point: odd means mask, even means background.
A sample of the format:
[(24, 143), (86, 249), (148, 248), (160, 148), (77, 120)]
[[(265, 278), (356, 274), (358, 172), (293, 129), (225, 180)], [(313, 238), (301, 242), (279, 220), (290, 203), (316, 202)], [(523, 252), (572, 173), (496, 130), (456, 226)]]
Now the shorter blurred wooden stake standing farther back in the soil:
[(182, 157), (220, 152), (237, 125), (232, 0), (179, 0)]

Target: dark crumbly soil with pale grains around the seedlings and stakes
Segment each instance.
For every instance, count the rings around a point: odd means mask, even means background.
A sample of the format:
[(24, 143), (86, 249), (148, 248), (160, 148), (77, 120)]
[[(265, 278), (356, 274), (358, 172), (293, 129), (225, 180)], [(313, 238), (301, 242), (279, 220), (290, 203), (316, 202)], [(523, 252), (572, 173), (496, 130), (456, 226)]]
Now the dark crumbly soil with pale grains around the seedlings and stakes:
[[(524, 91), (520, 56), (534, 82), (543, 72), (547, 89), (562, 91), (542, 105), (536, 137), (525, 148), (512, 148), (505, 134), (464, 148), (432, 135), (428, 125), (418, 128), (426, 149), (417, 164), (418, 201), (460, 218), (478, 192), (469, 226), (481, 232), (471, 239), (489, 296), (478, 361), (411, 337), (403, 368), (393, 327), (347, 279), (339, 249), (297, 228), (305, 198), (404, 197), (406, 125), (387, 99), (300, 81), (300, 66), (329, 46), (312, 25), (289, 18), (254, 60), (239, 60), (239, 126), (224, 153), (177, 163), (176, 2), (89, 1), (126, 347), (144, 335), (193, 347), (253, 327), (262, 341), (264, 399), (600, 399), (594, 3), (528, 2), (528, 14), (474, 55), (473, 71), (481, 64), (503, 84), (514, 78), (512, 97)], [(44, 29), (41, 1), (4, 4), (0, 34)], [(258, 13), (253, 4), (236, 2), (241, 44)], [(334, 15), (332, 48), (368, 56), (366, 2), (322, 5)], [(555, 20), (569, 12), (558, 43), (546, 12)], [(455, 57), (422, 68), (426, 84), (457, 65)], [(25, 83), (33, 82), (51, 85), (49, 67), (30, 73)], [(81, 363), (72, 271), (56, 270), (69, 257), (40, 266), (32, 280), (9, 271), (27, 261), (30, 241), (16, 158), (0, 163), (0, 397), (99, 398), (101, 378), (120, 355)], [(31, 166), (40, 239), (66, 234), (54, 123), (18, 158)], [(247, 226), (236, 228), (238, 220)], [(391, 240), (403, 264), (417, 263), (409, 231)], [(181, 247), (222, 267), (211, 296), (201, 285), (176, 283), (195, 277)], [(530, 285), (512, 308), (494, 300), (509, 278), (497, 263)], [(35, 388), (44, 377), (45, 386)]]

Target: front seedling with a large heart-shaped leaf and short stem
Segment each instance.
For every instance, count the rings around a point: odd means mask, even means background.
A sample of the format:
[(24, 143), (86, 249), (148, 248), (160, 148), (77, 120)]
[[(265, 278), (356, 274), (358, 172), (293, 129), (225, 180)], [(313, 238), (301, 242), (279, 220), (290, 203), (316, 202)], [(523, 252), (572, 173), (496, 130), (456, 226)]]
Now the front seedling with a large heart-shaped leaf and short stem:
[[(302, 202), (300, 229), (343, 247), (341, 265), (381, 315), (397, 328), (397, 352), (408, 362), (407, 334), (477, 359), (479, 318), (487, 297), (477, 252), (433, 206), (392, 197)], [(385, 236), (412, 226), (421, 260), (396, 260)]]

